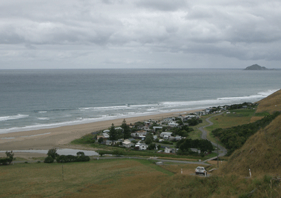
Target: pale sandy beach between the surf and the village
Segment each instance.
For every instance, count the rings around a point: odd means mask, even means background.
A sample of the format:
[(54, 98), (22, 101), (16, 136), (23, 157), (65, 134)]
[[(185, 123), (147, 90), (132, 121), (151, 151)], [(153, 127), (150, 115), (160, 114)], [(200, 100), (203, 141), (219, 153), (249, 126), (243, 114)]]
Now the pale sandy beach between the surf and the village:
[[(147, 121), (149, 119), (160, 120), (169, 116), (178, 116), (180, 114), (197, 112), (199, 110), (185, 112), (170, 112), (166, 114), (156, 114), (149, 116), (138, 116), (127, 118), (125, 121), (136, 123), (137, 121)], [(0, 134), (0, 150), (25, 150), (25, 149), (51, 149), (51, 148), (73, 148), (76, 146), (69, 145), (72, 140), (80, 138), (91, 132), (101, 129), (107, 129), (114, 123), (115, 126), (122, 124), (123, 119), (115, 119), (110, 121), (99, 121), (95, 123), (86, 123), (81, 125), (69, 125), (56, 127), (51, 129), (38, 129), (26, 132), (12, 132), (8, 134)], [(0, 153), (0, 157), (5, 153)]]

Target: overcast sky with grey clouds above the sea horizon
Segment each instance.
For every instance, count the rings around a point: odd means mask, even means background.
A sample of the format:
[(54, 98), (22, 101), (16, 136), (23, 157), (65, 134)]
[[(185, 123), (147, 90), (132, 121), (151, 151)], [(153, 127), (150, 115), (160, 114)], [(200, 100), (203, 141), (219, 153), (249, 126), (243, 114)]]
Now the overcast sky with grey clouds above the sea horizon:
[(0, 69), (281, 69), (280, 10), (280, 0), (2, 0)]

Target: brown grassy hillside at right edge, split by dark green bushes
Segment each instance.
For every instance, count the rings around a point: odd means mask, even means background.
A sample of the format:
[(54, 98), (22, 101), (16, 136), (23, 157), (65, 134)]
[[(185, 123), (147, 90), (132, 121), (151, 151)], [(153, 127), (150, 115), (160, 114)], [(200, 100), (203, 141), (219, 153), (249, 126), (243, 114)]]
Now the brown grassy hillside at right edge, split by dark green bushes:
[[(280, 111), (281, 90), (258, 103), (257, 112)], [(251, 136), (241, 149), (234, 151), (223, 172), (247, 176), (249, 169), (252, 175), (281, 175), (281, 115)]]

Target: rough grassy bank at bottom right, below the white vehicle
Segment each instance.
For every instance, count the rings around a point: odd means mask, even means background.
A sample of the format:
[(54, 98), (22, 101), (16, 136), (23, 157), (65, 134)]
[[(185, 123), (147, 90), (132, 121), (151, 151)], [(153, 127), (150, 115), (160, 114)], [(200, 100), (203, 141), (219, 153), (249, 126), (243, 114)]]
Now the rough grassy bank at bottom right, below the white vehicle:
[(177, 174), (152, 197), (280, 197), (280, 181), (274, 179), (269, 175), (252, 179), (239, 175), (194, 177)]

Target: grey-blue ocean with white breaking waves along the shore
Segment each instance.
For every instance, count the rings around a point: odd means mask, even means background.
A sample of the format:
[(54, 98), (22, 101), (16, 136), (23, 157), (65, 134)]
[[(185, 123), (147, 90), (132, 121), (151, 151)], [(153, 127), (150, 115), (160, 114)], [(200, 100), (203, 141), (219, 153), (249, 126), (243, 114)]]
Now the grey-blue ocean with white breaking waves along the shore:
[(280, 70), (0, 70), (0, 134), (255, 102), (280, 84)]

